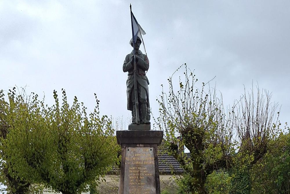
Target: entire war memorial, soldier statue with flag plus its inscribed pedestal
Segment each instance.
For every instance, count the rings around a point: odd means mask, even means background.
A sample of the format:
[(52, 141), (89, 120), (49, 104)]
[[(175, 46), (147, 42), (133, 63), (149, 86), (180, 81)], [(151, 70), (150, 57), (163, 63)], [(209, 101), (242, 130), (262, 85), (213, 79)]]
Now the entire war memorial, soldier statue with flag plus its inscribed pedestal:
[(147, 54), (139, 50), (142, 42), (144, 45), (142, 34), (146, 33), (132, 10), (131, 24), (133, 51), (125, 58), (123, 72), (128, 72), (127, 109), (132, 111), (132, 123), (128, 130), (116, 131), (117, 142), (122, 147), (118, 194), (160, 194), (157, 146), (163, 139), (163, 131), (150, 129), (149, 81), (146, 76), (149, 60)]

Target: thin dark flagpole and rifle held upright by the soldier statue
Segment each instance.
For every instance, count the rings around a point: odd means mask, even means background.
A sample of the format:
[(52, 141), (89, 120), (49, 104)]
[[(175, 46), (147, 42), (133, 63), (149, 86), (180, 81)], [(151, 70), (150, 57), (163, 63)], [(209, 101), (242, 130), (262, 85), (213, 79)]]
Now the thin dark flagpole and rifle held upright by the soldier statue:
[(139, 118), (139, 100), (138, 100), (138, 88), (137, 88), (137, 65), (136, 65), (136, 58), (135, 58), (135, 41), (134, 41), (134, 28), (133, 28), (133, 21), (132, 21), (132, 6), (130, 3), (130, 12), (131, 12), (131, 26), (132, 26), (132, 40), (133, 40), (133, 55), (134, 55), (134, 92), (135, 92), (135, 117), (136, 117), (136, 124), (140, 123)]

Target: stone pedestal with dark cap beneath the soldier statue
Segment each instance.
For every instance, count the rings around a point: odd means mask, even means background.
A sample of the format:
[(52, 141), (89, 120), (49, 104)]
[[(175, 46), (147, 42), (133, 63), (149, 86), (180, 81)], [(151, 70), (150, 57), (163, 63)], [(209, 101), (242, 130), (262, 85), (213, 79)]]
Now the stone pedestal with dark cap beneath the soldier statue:
[(160, 194), (157, 145), (163, 131), (117, 131), (122, 147), (119, 194)]

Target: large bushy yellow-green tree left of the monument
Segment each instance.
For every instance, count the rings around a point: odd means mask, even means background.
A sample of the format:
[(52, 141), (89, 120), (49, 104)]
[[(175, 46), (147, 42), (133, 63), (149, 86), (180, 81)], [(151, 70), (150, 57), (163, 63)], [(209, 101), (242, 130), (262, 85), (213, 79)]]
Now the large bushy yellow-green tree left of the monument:
[(99, 116), (99, 101), (87, 114), (76, 97), (69, 106), (64, 90), (61, 105), (56, 91), (53, 106), (45, 105), (37, 95), (31, 99), (26, 104), (21, 96), (15, 100), (21, 108), (9, 118), (11, 132), (3, 143), (15, 176), (63, 194), (96, 186), (116, 162), (118, 147), (110, 119)]

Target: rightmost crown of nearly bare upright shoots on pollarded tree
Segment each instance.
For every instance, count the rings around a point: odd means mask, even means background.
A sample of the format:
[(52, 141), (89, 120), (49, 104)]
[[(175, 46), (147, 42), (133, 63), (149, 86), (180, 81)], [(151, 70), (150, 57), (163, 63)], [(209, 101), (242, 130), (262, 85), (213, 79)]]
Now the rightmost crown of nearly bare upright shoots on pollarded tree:
[[(234, 127), (238, 134), (240, 152), (250, 151), (254, 154), (255, 164), (262, 156), (271, 149), (271, 139), (280, 132), (280, 107), (278, 103), (271, 102), (272, 94), (252, 85), (251, 91), (246, 92), (235, 101)], [(278, 110), (278, 111), (277, 111)]]

